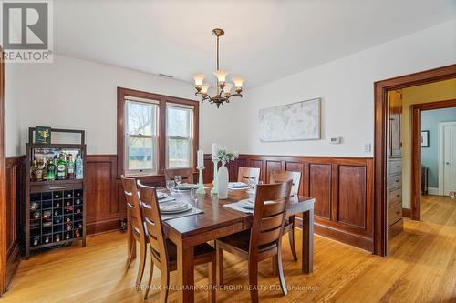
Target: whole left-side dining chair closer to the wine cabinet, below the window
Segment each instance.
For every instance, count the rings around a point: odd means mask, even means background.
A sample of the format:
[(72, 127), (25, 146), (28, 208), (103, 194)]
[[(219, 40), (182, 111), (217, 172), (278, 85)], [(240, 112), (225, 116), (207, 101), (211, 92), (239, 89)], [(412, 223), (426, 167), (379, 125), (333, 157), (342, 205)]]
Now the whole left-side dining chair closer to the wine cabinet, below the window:
[(143, 220), (140, 212), (140, 200), (138, 197), (138, 188), (136, 187), (136, 180), (134, 178), (127, 178), (121, 176), (123, 192), (127, 201), (127, 218), (128, 228), (130, 228), (130, 235), (133, 237), (129, 241), (134, 241), (129, 247), (129, 257), (127, 259), (127, 270), (130, 268), (133, 255), (136, 251), (136, 244), (140, 243), (140, 262), (138, 265), (138, 275), (136, 278), (136, 285), (139, 286), (142, 275), (144, 274), (144, 267), (146, 265), (146, 252), (147, 252), (147, 237), (144, 228)]

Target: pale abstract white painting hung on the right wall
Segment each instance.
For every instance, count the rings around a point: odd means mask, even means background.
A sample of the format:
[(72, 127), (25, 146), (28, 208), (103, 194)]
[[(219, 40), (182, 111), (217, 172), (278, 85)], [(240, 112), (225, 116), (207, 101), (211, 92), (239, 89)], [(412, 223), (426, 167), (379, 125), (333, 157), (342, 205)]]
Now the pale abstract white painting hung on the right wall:
[(275, 142), (319, 139), (320, 103), (321, 98), (316, 98), (260, 109), (260, 140)]

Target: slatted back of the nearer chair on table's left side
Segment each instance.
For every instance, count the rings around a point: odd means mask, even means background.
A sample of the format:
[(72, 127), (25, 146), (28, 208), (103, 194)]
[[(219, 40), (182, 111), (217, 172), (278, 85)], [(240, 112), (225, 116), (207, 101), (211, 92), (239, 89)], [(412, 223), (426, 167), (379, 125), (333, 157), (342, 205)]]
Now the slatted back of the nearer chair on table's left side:
[(147, 228), (153, 262), (157, 265), (167, 266), (168, 251), (161, 222), (157, 191), (155, 187), (147, 187), (140, 184), (140, 182), (138, 182), (138, 188), (140, 189), (140, 207)]

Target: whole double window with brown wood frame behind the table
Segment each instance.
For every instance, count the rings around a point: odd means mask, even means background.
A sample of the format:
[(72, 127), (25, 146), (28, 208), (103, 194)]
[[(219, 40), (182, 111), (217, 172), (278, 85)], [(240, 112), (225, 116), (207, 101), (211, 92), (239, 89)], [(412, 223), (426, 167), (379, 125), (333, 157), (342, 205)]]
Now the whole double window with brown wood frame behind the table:
[(118, 174), (161, 175), (194, 167), (197, 101), (118, 87)]

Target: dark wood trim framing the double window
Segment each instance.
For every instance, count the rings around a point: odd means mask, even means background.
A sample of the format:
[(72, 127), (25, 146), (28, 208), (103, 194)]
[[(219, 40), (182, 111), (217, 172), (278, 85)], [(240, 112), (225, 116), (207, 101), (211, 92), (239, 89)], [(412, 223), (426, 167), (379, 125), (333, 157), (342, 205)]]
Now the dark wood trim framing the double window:
[[(193, 106), (193, 146), (192, 146), (192, 168), (196, 165), (196, 152), (199, 146), (200, 134), (200, 103), (195, 100), (184, 99), (176, 96), (165, 96), (140, 90), (118, 87), (117, 88), (117, 177), (125, 171), (125, 97), (133, 96), (144, 99), (159, 101), (159, 155), (157, 163), (158, 176), (164, 173), (166, 167), (166, 103), (175, 103)], [(141, 177), (145, 175), (140, 175)], [(149, 175), (151, 176), (151, 175)], [(153, 176), (153, 175), (152, 175)]]

